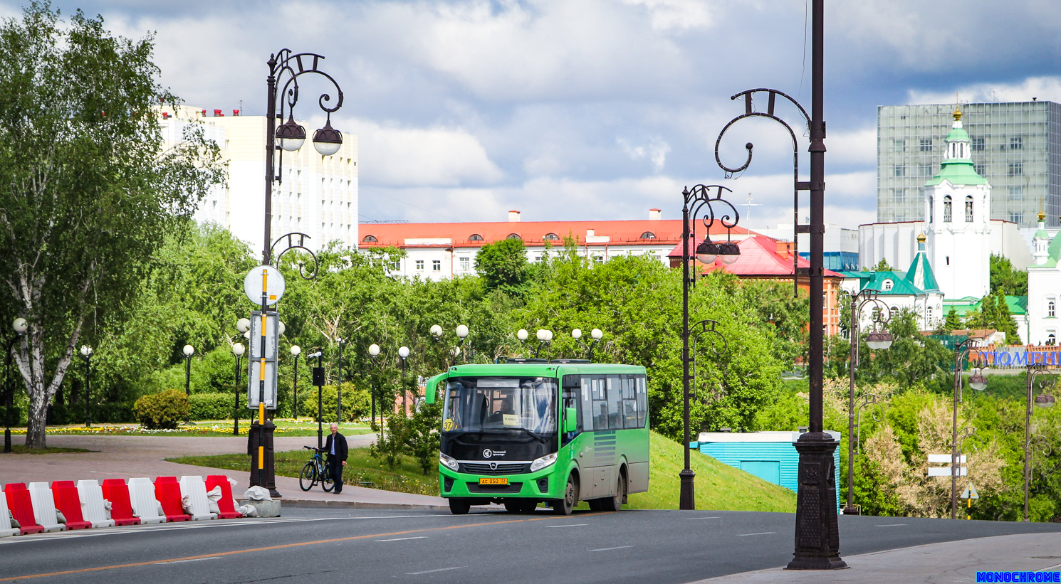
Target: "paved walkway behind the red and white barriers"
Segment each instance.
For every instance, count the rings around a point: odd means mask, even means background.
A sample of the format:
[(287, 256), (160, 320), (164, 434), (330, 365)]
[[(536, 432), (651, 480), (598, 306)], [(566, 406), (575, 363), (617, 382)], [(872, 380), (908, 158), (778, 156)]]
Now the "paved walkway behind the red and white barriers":
[[(351, 448), (369, 445), (376, 435), (347, 437)], [(316, 437), (278, 436), (274, 438), (277, 452), (296, 450), (303, 445), (315, 445)], [(91, 453), (53, 455), (0, 454), (0, 483), (53, 480), (158, 477), (181, 475), (227, 475), (239, 483), (232, 493), (240, 497), (248, 486), (249, 473), (209, 468), (190, 464), (167, 462), (166, 458), (194, 455), (246, 454), (245, 437), (168, 437), (168, 436), (49, 436), (49, 446), (88, 448)], [(307, 459), (309, 454), (307, 453)], [(446, 499), (411, 493), (395, 493), (378, 489), (344, 485), (338, 495), (325, 493), (319, 486), (303, 492), (298, 479), (276, 477), (276, 486), (283, 500), (343, 501), (344, 505), (446, 507)]]

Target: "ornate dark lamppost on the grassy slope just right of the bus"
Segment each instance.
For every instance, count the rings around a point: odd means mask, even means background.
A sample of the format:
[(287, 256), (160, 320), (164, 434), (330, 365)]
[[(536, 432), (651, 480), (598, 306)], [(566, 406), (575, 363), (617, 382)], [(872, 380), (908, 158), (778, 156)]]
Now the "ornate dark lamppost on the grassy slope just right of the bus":
[[(725, 131), (725, 130), (724, 130)], [(714, 194), (712, 194), (712, 189)], [(723, 227), (732, 229), (741, 220), (741, 214), (726, 199), (723, 198), (723, 191), (731, 192), (729, 189), (712, 184), (705, 187), (697, 184), (690, 191), (688, 188), (682, 191), (684, 205), (681, 208), (681, 386), (682, 386), (682, 413), (684, 442), (682, 450), (685, 452), (685, 467), (678, 473), (681, 479), (681, 492), (678, 497), (678, 509), (696, 509), (696, 492), (694, 480), (696, 473), (690, 468), (689, 453), (689, 291), (694, 282), (690, 273), (691, 254), (690, 236), (696, 241), (697, 217), (703, 224), (703, 241), (696, 246), (696, 259), (705, 264), (714, 264), (715, 260), (721, 258), (727, 264), (732, 264), (741, 256), (741, 248), (730, 241), (727, 235), (726, 243), (715, 244), (711, 241), (711, 228), (717, 220)]]

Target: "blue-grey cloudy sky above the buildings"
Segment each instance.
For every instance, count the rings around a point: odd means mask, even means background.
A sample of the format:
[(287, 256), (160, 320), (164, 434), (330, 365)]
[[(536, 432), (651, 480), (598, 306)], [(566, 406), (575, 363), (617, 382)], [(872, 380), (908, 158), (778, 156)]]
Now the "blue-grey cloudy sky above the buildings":
[[(746, 227), (792, 220), (783, 130), (730, 95), (772, 87), (810, 109), (810, 0), (54, 0), (156, 38), (187, 103), (264, 111), (280, 48), (327, 56), (333, 125), (360, 139), (361, 219), (680, 215), (683, 185), (724, 183)], [(20, 2), (0, 0), (0, 16)], [(1061, 2), (832, 1), (825, 17), (827, 220), (875, 218), (876, 106), (1061, 101)], [(301, 113), (323, 123), (306, 100)], [(804, 140), (801, 137), (801, 140)], [(807, 167), (805, 141), (801, 167)], [(727, 156), (728, 155), (728, 156)], [(750, 203), (750, 205), (749, 205)], [(801, 213), (805, 214), (805, 213)]]

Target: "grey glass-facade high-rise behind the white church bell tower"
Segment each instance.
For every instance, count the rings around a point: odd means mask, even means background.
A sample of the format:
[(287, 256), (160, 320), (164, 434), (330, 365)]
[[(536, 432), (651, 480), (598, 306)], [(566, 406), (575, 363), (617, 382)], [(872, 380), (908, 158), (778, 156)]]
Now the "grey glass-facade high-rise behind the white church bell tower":
[[(954, 104), (879, 106), (876, 220), (924, 220), (922, 187), (939, 173)], [(1061, 214), (1061, 105), (1054, 102), (962, 104), (974, 169), (991, 184), (991, 218), (1034, 227), (1040, 202), (1047, 225)]]

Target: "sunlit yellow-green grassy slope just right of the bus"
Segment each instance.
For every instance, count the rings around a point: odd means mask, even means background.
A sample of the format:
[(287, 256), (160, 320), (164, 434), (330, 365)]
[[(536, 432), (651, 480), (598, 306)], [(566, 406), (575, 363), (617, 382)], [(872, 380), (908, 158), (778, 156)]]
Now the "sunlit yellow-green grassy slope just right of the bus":
[[(651, 432), (647, 493), (629, 496), (630, 509), (678, 509), (678, 473), (684, 467), (681, 444)], [(723, 464), (694, 450), (696, 508), (729, 511), (796, 511), (796, 493)]]

